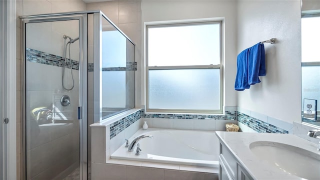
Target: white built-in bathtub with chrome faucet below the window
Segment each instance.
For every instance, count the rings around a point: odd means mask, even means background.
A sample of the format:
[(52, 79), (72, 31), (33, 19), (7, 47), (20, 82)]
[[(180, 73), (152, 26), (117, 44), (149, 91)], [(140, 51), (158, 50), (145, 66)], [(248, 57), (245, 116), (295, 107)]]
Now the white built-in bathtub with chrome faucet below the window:
[(129, 141), (142, 134), (153, 135), (153, 138), (138, 141), (142, 149), (140, 155), (135, 155), (136, 147), (129, 152), (123, 144), (110, 158), (218, 167), (218, 139), (214, 131), (139, 129)]

